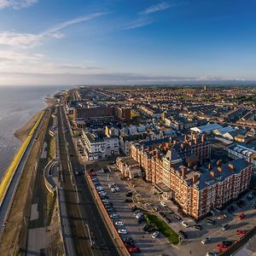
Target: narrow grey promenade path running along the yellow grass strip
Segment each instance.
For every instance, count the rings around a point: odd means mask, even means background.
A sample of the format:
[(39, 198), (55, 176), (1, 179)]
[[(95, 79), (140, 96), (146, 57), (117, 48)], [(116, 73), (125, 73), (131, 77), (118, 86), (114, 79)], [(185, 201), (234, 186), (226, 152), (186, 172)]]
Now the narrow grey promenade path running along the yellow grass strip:
[(19, 184), (23, 168), (26, 165), (26, 160), (29, 157), (29, 154), (31, 152), (31, 149), (32, 149), (32, 146), (35, 142), (35, 139), (38, 137), (38, 131), (40, 130), (40, 127), (41, 127), (41, 125), (42, 125), (42, 123), (43, 123), (43, 121), (46, 117), (47, 111), (45, 111), (43, 118), (41, 119), (37, 129), (35, 130), (35, 132), (32, 135), (31, 141), (28, 143), (26, 151), (23, 154), (19, 165), (17, 166), (14, 177), (12, 178), (11, 182), (9, 183), (9, 188), (6, 192), (6, 195), (4, 196), (3, 203), (0, 206), (0, 241), (1, 241), (1, 237), (3, 235), (3, 231), (4, 231), (4, 222), (8, 218), (9, 210), (10, 210), (10, 207), (12, 206), (12, 202), (13, 202), (13, 199), (14, 199), (14, 196), (15, 196), (15, 191), (16, 191), (17, 186)]

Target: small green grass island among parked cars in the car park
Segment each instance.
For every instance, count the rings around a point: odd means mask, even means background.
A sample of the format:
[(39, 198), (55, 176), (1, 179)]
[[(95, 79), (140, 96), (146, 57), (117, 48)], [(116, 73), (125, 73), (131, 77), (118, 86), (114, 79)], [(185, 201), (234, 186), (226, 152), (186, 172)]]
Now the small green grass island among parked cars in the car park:
[(164, 220), (158, 218), (153, 214), (145, 214), (145, 218), (148, 224), (152, 224), (156, 227), (157, 230), (160, 231), (166, 238), (172, 242), (174, 245), (178, 244), (179, 237), (177, 233), (175, 233)]

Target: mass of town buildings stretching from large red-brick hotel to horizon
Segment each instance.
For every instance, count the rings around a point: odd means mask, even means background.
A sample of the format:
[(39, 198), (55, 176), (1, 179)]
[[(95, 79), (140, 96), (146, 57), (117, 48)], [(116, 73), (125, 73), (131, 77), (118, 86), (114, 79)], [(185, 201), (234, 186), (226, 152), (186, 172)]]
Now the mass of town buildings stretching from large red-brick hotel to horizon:
[[(86, 160), (116, 158), (122, 177), (202, 218), (256, 177), (254, 88), (80, 87), (67, 111)], [(212, 153), (221, 144), (226, 157)], [(122, 156), (120, 156), (122, 154)]]

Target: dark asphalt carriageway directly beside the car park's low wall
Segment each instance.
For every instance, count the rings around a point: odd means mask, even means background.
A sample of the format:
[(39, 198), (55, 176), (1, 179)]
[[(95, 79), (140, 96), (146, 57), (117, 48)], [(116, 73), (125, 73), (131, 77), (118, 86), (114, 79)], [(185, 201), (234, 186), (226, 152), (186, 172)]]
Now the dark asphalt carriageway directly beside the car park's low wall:
[[(111, 235), (109, 234), (105, 223), (102, 220), (102, 216), (96, 207), (96, 202), (93, 195), (91, 194), (88, 183), (86, 182), (84, 175), (76, 175), (75, 172), (84, 172), (84, 166), (81, 166), (79, 163), (79, 158), (77, 152), (73, 145), (73, 138), (70, 133), (70, 127), (68, 125), (67, 117), (65, 110), (61, 107), (61, 115), (63, 117), (63, 125), (65, 131), (65, 140), (67, 142), (68, 154), (70, 158), (70, 163), (73, 169), (73, 184), (78, 191), (76, 193), (77, 198), (79, 199), (79, 213), (83, 219), (83, 224), (87, 225), (90, 229), (90, 236), (94, 241), (94, 246), (91, 249), (93, 255), (119, 255), (119, 251), (115, 246)], [(74, 201), (73, 201), (74, 206)], [(70, 218), (70, 217), (69, 217)], [(80, 224), (80, 230), (82, 230)], [(88, 232), (86, 232), (88, 235)], [(85, 241), (89, 243), (89, 237), (85, 236)], [(80, 240), (82, 241), (82, 239)], [(84, 254), (83, 254), (84, 255)], [(86, 254), (87, 255), (87, 254)]]

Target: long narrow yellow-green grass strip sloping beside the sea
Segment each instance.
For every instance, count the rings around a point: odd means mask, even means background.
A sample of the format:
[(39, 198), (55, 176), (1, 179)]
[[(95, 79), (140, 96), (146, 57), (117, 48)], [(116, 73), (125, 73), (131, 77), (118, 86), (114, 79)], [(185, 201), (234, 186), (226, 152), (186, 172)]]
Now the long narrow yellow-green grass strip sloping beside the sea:
[(9, 183), (15, 173), (15, 170), (16, 170), (17, 166), (19, 165), (20, 160), (21, 160), (23, 154), (25, 153), (26, 148), (27, 148), (28, 144), (30, 143), (32, 136), (33, 136), (34, 132), (36, 131), (38, 124), (40, 123), (43, 116), (44, 116), (44, 111), (42, 111), (37, 122), (35, 123), (35, 125), (33, 125), (32, 130), (29, 132), (24, 143), (21, 144), (18, 153), (15, 154), (14, 160), (10, 164), (8, 171), (6, 172), (5, 176), (3, 177), (3, 181), (0, 184), (0, 202), (3, 201), (3, 197), (9, 187)]

